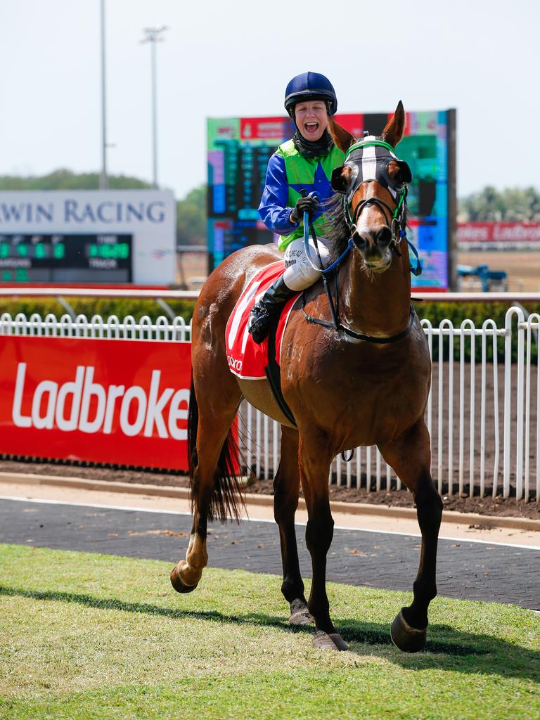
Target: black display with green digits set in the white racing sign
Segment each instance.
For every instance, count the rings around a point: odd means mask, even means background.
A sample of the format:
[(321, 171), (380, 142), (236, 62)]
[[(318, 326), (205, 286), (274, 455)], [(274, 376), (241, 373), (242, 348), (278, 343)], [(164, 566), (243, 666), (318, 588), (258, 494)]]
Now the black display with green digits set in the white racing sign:
[(3, 282), (132, 282), (132, 235), (0, 235)]

